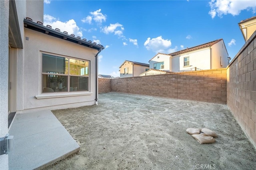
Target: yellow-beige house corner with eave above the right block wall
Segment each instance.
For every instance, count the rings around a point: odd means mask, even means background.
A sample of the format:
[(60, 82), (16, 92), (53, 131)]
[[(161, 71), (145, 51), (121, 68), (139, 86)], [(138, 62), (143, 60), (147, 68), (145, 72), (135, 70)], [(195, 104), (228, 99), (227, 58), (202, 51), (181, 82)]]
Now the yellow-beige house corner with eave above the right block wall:
[(256, 30), (256, 16), (242, 20), (238, 26), (243, 34), (244, 41), (247, 41)]

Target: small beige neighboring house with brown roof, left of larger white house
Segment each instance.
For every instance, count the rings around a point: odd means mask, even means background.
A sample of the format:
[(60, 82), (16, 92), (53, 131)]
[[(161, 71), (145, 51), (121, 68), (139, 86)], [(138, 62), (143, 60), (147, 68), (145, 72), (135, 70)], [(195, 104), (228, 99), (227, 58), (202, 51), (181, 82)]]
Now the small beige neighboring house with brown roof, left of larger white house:
[(120, 68), (120, 78), (140, 76), (145, 71), (149, 70), (149, 64), (139, 63), (135, 61), (124, 61)]

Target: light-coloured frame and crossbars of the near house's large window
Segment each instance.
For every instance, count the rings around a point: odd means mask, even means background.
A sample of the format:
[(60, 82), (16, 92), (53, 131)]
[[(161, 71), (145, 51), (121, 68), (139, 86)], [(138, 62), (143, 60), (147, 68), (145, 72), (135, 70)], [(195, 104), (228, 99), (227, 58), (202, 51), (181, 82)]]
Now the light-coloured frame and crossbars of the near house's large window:
[[(62, 57), (65, 59), (68, 59), (68, 73), (65, 74), (61, 74), (61, 73), (51, 73), (49, 71), (47, 72), (43, 72), (43, 55), (51, 55), (53, 57)], [(75, 57), (70, 57), (70, 56), (65, 56), (65, 55), (59, 55), (59, 54), (55, 54), (55, 53), (48, 53), (48, 52), (40, 52), (40, 57), (41, 57), (41, 64), (40, 64), (40, 76), (41, 76), (41, 83), (40, 83), (40, 86), (41, 86), (41, 94), (63, 94), (63, 93), (66, 93), (66, 94), (71, 94), (71, 93), (74, 93), (74, 92), (79, 92), (79, 93), (90, 93), (90, 79), (91, 79), (91, 61), (90, 60), (86, 60), (86, 59), (78, 59), (78, 58), (75, 58)], [(85, 62), (88, 62), (88, 75), (75, 75), (75, 74), (70, 74), (70, 59), (74, 59), (74, 60), (80, 60), (80, 61), (85, 61)], [(59, 92), (43, 92), (43, 75), (56, 75), (56, 76), (67, 76), (67, 91), (59, 91)], [(77, 77), (87, 77), (88, 78), (88, 90), (78, 90), (78, 91), (70, 91), (70, 79), (71, 77), (74, 77), (74, 76), (77, 76)], [(79, 83), (79, 82), (78, 82)]]

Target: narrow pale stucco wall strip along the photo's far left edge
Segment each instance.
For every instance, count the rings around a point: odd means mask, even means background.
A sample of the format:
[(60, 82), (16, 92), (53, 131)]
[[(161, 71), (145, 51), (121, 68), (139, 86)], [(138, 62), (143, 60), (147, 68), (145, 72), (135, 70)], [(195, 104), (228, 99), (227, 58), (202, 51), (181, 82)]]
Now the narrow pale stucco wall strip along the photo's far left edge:
[[(9, 1), (0, 0), (0, 137), (8, 133), (8, 23)], [(8, 170), (8, 154), (0, 156), (0, 169)]]

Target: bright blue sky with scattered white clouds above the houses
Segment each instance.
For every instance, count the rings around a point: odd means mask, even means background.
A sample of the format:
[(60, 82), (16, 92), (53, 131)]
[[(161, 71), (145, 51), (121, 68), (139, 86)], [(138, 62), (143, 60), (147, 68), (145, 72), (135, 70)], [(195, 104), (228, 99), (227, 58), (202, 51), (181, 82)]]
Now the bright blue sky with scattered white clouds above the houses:
[(44, 25), (100, 43), (99, 74), (119, 75), (125, 61), (223, 39), (232, 59), (244, 45), (238, 27), (255, 0), (44, 0)]

